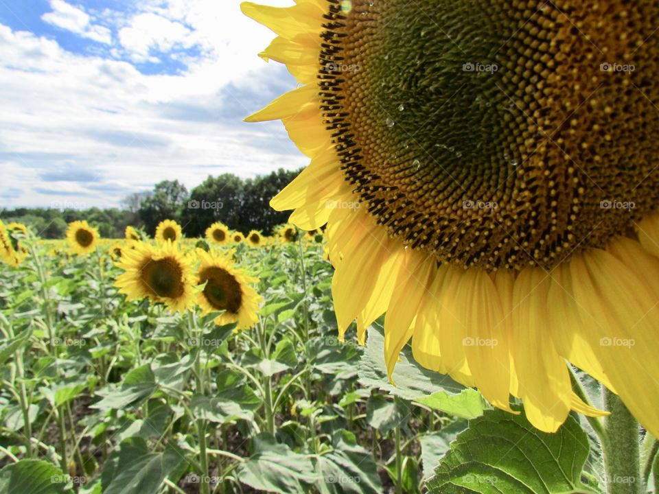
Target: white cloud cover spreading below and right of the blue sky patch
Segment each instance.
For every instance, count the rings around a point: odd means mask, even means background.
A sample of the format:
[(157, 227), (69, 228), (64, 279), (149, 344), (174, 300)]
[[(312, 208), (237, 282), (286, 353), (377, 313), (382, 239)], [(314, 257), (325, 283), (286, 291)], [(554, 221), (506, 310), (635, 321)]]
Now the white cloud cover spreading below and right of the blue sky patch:
[[(292, 82), (283, 87), (288, 84), (278, 64), (256, 55), (273, 35), (244, 18), (237, 1), (231, 9), (222, 5), (197, 0), (185, 19), (174, 11), (135, 14), (154, 14), (189, 32), (151, 32), (157, 41), (135, 41), (136, 53), (148, 46), (157, 55), (172, 43), (193, 41), (203, 47), (202, 56), (176, 75), (145, 75), (129, 62), (73, 54), (56, 40), (0, 24), (2, 205), (78, 200), (108, 207), (159, 180), (178, 178), (192, 188), (209, 174), (247, 177), (305, 165), (280, 124), (242, 124), (275, 96), (273, 84), (279, 92), (292, 89)], [(216, 19), (211, 29), (213, 16), (222, 15), (229, 18)], [(84, 29), (82, 16), (75, 19), (67, 29)], [(130, 18), (126, 22), (131, 25)], [(86, 172), (84, 180), (76, 180), (76, 170)], [(52, 171), (62, 173), (46, 173)]]

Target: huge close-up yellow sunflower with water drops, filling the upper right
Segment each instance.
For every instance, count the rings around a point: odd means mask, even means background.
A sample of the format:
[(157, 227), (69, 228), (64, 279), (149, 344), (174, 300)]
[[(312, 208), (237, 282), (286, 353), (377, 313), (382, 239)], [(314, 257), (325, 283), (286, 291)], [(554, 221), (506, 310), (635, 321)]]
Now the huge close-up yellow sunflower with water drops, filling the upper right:
[(656, 2), (429, 3), (242, 4), (300, 83), (247, 121), (311, 160), (270, 204), (327, 224), (340, 336), (386, 312), (390, 379), (411, 340), (553, 432), (598, 414), (571, 363), (658, 436)]

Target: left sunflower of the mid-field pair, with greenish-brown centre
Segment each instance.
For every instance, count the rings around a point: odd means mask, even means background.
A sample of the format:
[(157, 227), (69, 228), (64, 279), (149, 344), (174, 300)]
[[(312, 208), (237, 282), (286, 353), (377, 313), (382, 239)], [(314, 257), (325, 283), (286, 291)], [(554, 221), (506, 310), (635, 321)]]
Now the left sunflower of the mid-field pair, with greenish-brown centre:
[(178, 250), (178, 244), (166, 240), (154, 247), (135, 242), (135, 248), (122, 251), (117, 263), (125, 272), (115, 281), (128, 300), (147, 297), (167, 305), (172, 312), (194, 305), (192, 259)]

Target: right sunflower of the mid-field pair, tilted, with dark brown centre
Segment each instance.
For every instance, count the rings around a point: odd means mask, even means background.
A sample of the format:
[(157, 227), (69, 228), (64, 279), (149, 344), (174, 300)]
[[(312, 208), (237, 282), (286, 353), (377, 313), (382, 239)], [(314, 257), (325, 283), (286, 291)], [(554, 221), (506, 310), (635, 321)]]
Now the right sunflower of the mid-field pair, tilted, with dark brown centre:
[(206, 283), (197, 296), (203, 314), (224, 311), (215, 318), (218, 325), (238, 322), (236, 329), (246, 329), (258, 322), (257, 311), (262, 298), (251, 287), (257, 279), (248, 277), (242, 270), (216, 252), (197, 249), (201, 261), (197, 270), (197, 283)]

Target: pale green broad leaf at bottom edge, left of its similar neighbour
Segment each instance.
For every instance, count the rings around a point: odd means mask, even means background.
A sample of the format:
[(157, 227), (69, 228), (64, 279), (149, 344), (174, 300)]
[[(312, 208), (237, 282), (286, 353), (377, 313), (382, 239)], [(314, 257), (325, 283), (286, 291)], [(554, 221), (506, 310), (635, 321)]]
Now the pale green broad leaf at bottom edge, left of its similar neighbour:
[(238, 467), (238, 479), (253, 489), (276, 493), (304, 492), (316, 480), (310, 460), (262, 433), (254, 438), (256, 452)]

